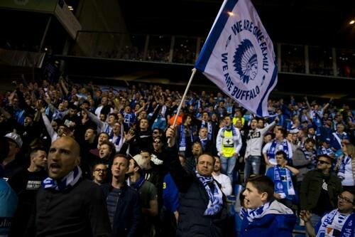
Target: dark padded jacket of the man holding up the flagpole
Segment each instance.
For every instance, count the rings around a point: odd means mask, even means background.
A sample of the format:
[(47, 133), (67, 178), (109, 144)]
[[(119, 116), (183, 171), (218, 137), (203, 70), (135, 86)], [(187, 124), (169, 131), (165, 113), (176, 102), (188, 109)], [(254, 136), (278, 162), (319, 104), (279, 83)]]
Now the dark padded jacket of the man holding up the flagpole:
[(178, 159), (176, 148), (171, 149), (170, 174), (181, 193), (178, 229), (176, 236), (217, 237), (224, 236), (226, 224), (226, 200), (222, 210), (214, 216), (204, 216), (209, 203), (203, 184), (193, 174), (185, 172)]

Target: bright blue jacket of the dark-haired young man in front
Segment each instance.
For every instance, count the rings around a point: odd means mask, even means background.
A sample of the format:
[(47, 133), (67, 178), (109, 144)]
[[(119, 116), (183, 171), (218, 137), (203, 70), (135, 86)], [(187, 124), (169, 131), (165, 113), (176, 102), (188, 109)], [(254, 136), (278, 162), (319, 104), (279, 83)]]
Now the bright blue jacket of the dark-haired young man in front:
[(244, 218), (241, 223), (241, 237), (292, 237), (296, 223), (294, 214), (266, 214), (249, 222)]

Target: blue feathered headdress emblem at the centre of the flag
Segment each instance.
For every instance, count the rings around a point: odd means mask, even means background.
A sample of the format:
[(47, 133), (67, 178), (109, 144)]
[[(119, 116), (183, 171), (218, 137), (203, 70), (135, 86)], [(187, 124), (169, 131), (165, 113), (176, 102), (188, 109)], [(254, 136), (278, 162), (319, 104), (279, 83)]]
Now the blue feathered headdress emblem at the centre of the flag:
[(241, 41), (234, 53), (233, 63), (243, 83), (248, 84), (249, 80), (255, 79), (258, 74), (258, 58), (251, 41), (247, 39)]

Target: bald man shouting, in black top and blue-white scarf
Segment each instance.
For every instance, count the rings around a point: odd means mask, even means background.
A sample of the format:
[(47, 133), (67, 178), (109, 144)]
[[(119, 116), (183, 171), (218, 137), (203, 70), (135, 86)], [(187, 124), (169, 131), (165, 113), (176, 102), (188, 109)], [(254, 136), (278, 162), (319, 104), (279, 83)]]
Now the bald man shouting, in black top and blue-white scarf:
[(82, 179), (80, 146), (60, 137), (48, 152), (48, 178), (38, 190), (26, 236), (111, 236), (102, 190)]

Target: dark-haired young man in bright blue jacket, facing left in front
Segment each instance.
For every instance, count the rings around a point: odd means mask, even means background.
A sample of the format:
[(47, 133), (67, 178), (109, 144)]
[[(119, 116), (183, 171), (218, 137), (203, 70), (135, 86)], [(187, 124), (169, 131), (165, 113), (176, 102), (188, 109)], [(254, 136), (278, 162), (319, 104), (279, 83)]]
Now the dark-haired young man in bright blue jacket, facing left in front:
[(273, 200), (274, 184), (266, 176), (248, 179), (244, 204), (246, 211), (241, 223), (241, 237), (291, 237), (296, 216), (293, 211)]

